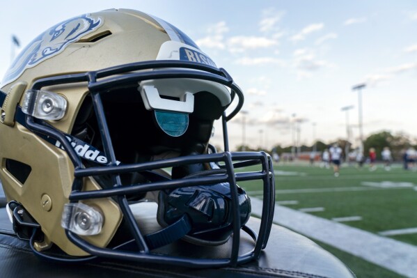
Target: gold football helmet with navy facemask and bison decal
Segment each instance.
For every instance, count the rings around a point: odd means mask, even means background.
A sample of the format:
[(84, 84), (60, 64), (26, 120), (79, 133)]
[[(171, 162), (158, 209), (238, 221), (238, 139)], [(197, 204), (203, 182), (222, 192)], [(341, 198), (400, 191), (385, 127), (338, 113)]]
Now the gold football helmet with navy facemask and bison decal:
[[(64, 262), (219, 267), (258, 258), (274, 173), (264, 152), (229, 151), (227, 122), (243, 101), (226, 70), (157, 17), (111, 9), (56, 24), (1, 82), (0, 178), (15, 232), (38, 256)], [(217, 119), (219, 153), (209, 144)], [(251, 202), (237, 185), (251, 180), (263, 188), (259, 231), (245, 225)], [(248, 252), (239, 251), (241, 231), (253, 240)], [(230, 252), (164, 251), (174, 244)]]

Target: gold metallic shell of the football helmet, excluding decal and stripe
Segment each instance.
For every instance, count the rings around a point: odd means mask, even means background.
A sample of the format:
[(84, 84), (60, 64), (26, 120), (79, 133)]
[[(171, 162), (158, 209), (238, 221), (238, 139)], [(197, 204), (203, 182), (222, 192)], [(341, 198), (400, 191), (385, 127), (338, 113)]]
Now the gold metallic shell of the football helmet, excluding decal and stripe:
[[(74, 181), (74, 165), (64, 150), (41, 139), (19, 123), (13, 125), (13, 107), (22, 100), (24, 89), (31, 88), (37, 79), (155, 60), (159, 47), (169, 40), (162, 26), (152, 17), (134, 10), (104, 10), (91, 16), (100, 17), (104, 22), (95, 31), (70, 43), (59, 54), (32, 68), (26, 68), (17, 80), (1, 87), (3, 92), (11, 90), (8, 101), (3, 105), (6, 111), (4, 123), (8, 125), (0, 124), (0, 178), (6, 198), (22, 203), (40, 224), (45, 240), (36, 243), (38, 250), (47, 249), (53, 242), (74, 256), (88, 255), (68, 240), (61, 227), (63, 207), (69, 203)], [(95, 40), (101, 36), (101, 39)], [(86, 83), (61, 84), (42, 89), (58, 93), (68, 101), (65, 116), (60, 121), (48, 123), (62, 132), (71, 133), (77, 112), (88, 94)], [(6, 169), (8, 159), (31, 167), (24, 184)], [(99, 189), (100, 185), (95, 180), (84, 179), (83, 190)], [(107, 198), (86, 200), (85, 203), (100, 210), (104, 225), (100, 234), (83, 238), (98, 247), (105, 247), (122, 221), (120, 208)]]

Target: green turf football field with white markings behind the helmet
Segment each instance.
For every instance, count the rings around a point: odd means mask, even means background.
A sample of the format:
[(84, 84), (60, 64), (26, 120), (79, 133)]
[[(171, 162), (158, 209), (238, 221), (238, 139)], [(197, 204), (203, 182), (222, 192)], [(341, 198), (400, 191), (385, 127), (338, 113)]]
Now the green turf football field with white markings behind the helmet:
[[(391, 171), (381, 165), (375, 171), (369, 171), (367, 165), (362, 169), (343, 165), (336, 178), (333, 169), (318, 164), (312, 167), (290, 163), (278, 164), (274, 171), (276, 201), (281, 206), (294, 210), (322, 208), (311, 214), (325, 219), (361, 217), (343, 224), (375, 234), (417, 227), (417, 171), (406, 171), (401, 165), (394, 165)], [(259, 184), (246, 182), (242, 187), (249, 196), (261, 197)], [(417, 245), (417, 233), (387, 237)], [(358, 277), (402, 277), (323, 242), (317, 243), (338, 256)]]

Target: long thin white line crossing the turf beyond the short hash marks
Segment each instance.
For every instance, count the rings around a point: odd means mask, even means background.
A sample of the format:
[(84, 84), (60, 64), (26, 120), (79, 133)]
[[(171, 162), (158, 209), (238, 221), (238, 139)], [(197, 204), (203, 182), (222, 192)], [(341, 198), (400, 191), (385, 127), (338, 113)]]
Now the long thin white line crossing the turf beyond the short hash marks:
[[(323, 188), (304, 188), (299, 190), (275, 190), (276, 194), (296, 194), (296, 193), (324, 193), (324, 192), (351, 192), (351, 191), (370, 191), (370, 190), (404, 190), (410, 187), (323, 187)], [(249, 194), (262, 195), (262, 190), (248, 191)]]

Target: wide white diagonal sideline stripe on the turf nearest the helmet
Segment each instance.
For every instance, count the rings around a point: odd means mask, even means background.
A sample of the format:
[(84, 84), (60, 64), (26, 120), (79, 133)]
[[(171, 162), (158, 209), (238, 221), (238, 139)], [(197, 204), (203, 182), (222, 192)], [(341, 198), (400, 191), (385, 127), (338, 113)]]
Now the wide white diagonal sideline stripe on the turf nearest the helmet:
[[(251, 198), (251, 206), (254, 215), (262, 215), (262, 200)], [(416, 277), (417, 246), (278, 205), (274, 223), (405, 277)]]

